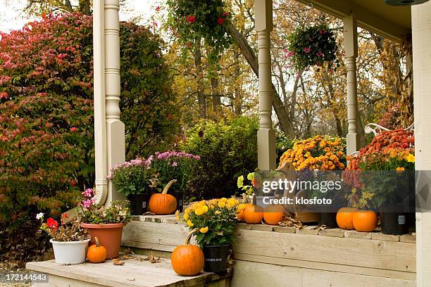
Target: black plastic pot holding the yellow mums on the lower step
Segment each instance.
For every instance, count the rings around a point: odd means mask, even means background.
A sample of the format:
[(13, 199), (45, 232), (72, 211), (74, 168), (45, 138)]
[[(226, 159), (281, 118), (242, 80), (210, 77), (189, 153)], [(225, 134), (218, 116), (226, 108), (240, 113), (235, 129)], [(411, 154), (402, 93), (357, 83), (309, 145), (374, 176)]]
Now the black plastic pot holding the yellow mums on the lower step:
[(226, 272), (229, 245), (204, 245), (205, 272)]

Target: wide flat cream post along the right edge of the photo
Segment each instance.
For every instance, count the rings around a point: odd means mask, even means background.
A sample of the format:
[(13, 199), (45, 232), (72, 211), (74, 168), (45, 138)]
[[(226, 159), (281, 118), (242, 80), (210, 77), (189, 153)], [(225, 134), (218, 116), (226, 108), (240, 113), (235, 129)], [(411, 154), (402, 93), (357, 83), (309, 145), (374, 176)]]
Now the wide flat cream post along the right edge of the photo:
[[(429, 171), (431, 170), (431, 2), (412, 6), (411, 18), (416, 170)], [(427, 191), (430, 196), (430, 172), (424, 172), (419, 179), (416, 190)], [(416, 214), (416, 272), (418, 287), (431, 286), (430, 212)]]

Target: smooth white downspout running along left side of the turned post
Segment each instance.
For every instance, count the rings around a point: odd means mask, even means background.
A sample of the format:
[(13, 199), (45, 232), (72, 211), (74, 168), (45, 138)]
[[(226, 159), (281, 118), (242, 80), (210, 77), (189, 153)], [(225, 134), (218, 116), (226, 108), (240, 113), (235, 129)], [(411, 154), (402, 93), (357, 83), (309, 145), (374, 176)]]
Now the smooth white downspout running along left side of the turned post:
[(108, 193), (105, 120), (104, 1), (93, 2), (94, 63), (94, 160), (96, 162), (96, 198), (105, 203)]

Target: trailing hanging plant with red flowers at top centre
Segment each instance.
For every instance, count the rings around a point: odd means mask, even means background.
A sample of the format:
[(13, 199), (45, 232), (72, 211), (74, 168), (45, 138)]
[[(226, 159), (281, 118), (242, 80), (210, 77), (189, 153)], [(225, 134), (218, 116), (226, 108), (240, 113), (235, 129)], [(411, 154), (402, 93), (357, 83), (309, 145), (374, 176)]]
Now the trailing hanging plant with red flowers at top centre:
[(168, 6), (168, 21), (184, 44), (183, 52), (187, 53), (196, 41), (204, 39), (204, 45), (210, 47), (208, 63), (211, 66), (218, 63), (221, 53), (231, 44), (226, 27), (231, 16), (224, 1), (168, 0)]

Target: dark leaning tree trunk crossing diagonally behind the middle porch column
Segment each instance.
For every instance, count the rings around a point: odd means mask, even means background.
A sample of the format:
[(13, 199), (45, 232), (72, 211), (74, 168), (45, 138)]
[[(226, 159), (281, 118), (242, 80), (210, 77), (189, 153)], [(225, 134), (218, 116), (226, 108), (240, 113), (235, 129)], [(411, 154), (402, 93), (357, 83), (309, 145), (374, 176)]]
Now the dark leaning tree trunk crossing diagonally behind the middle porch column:
[[(234, 39), (235, 42), (237, 43), (239, 50), (241, 51), (244, 58), (246, 58), (247, 62), (251, 67), (251, 70), (253, 70), (253, 72), (258, 77), (259, 76), (258, 60), (253, 49), (251, 49), (251, 46), (249, 45), (245, 37), (237, 30), (237, 28), (234, 25), (232, 25), (232, 23), (227, 24), (227, 30), (229, 31), (232, 39)], [(271, 98), (273, 100), (273, 107), (275, 110), (275, 114), (277, 115), (278, 122), (280, 124), (280, 129), (282, 129), (282, 131), (285, 132), (287, 136), (294, 136), (292, 120), (289, 117), (289, 112), (287, 108), (284, 106), (280, 96), (278, 95), (277, 90), (274, 87), (274, 84), (272, 84), (272, 87), (273, 87), (273, 93), (271, 94)]]

